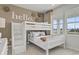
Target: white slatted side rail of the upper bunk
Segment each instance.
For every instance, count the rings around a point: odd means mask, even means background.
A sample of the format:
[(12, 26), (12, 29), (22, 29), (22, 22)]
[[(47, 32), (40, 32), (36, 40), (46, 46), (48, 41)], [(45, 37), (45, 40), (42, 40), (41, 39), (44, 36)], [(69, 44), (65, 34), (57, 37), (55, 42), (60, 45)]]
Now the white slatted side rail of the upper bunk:
[(38, 23), (38, 22), (27, 22), (25, 23), (25, 29), (26, 30), (50, 30), (51, 31), (51, 24), (47, 23)]

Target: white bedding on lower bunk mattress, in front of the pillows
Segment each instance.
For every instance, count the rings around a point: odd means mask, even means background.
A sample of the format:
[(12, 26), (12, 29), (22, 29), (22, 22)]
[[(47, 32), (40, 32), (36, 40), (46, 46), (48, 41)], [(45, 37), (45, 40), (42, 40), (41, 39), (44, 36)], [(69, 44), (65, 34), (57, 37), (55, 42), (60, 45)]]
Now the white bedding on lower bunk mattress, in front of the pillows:
[(47, 41), (42, 41), (39, 38), (36, 38), (36, 40), (30, 40), (30, 42), (46, 50), (63, 44), (64, 36), (48, 36)]

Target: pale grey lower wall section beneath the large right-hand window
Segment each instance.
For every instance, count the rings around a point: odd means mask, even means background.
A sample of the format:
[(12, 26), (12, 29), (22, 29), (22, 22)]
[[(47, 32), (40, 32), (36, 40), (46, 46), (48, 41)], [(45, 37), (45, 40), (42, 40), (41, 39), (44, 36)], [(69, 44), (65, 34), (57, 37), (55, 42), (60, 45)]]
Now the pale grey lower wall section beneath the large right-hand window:
[(70, 34), (66, 37), (66, 48), (79, 51), (79, 35)]

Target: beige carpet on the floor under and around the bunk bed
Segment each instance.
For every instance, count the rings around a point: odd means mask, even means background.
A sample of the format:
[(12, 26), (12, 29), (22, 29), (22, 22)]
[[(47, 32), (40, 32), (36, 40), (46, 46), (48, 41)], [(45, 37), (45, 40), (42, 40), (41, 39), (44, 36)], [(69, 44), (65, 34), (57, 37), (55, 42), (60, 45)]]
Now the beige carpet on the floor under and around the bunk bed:
[[(11, 55), (11, 47), (9, 47), (8, 54)], [(34, 44), (27, 46), (27, 55), (45, 55), (46, 52)], [(58, 46), (49, 51), (49, 55), (79, 55), (79, 51), (70, 49), (64, 49), (62, 46)]]

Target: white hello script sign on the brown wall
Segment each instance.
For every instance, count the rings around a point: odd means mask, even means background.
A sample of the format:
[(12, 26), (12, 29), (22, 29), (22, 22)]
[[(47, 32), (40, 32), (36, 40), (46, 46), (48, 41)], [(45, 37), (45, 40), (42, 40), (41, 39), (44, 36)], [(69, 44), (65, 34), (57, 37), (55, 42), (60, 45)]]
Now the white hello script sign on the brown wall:
[(17, 15), (15, 12), (12, 12), (12, 19), (29, 21), (32, 20), (32, 16), (28, 16), (27, 14)]

